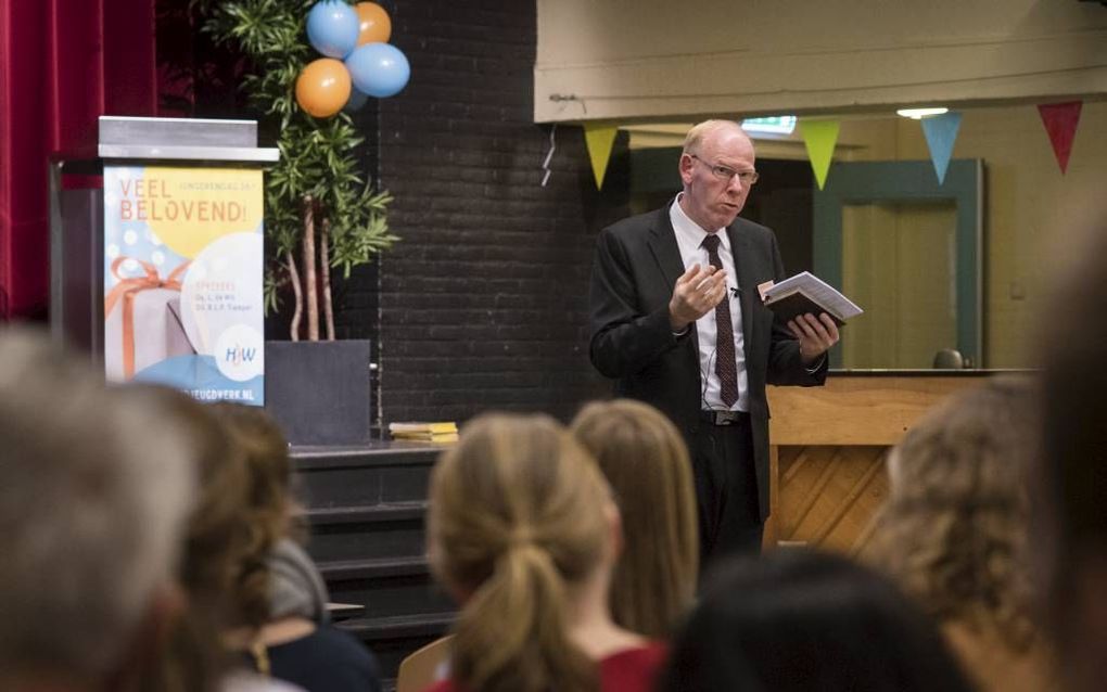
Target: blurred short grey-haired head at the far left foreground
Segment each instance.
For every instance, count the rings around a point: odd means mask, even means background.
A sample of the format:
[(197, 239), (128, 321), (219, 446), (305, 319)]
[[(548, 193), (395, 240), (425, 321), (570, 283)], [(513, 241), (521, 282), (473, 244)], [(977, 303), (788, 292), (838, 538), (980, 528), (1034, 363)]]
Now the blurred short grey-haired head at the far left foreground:
[(176, 600), (186, 436), (12, 328), (0, 331), (0, 686), (121, 685)]

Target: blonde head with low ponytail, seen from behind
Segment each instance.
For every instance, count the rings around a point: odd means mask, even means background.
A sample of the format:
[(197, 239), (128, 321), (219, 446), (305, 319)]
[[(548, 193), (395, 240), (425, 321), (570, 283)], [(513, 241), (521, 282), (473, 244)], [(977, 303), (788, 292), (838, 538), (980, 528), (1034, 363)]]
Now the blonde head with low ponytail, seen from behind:
[(552, 419), (484, 415), (431, 478), (430, 557), (463, 601), (452, 675), (474, 692), (594, 689), (569, 640), (575, 589), (610, 578), (618, 510)]

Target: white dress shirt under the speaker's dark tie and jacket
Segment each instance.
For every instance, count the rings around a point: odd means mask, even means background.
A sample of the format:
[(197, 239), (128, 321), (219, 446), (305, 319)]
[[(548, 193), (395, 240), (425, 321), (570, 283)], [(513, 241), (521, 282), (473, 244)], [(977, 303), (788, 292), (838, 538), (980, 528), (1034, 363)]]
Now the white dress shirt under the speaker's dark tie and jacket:
[[(681, 250), (681, 261), (687, 270), (692, 265), (699, 264), (701, 267), (711, 266), (711, 258), (707, 249), (703, 247), (703, 239), (707, 237), (707, 231), (699, 224), (689, 218), (681, 208), (681, 195), (669, 207), (669, 219), (676, 231), (676, 245)], [(746, 351), (742, 337), (742, 306), (731, 289), (738, 288), (737, 271), (734, 266), (734, 251), (731, 248), (731, 238), (726, 235), (725, 228), (720, 228), (718, 234), (718, 259), (723, 262), (723, 271), (726, 273), (726, 300), (731, 307), (731, 324), (734, 328), (734, 355), (738, 372), (738, 401), (733, 406), (723, 403), (720, 394), (718, 375), (715, 374), (715, 311), (708, 310), (706, 314), (695, 321), (696, 339), (700, 342), (700, 406), (714, 411), (749, 411), (749, 384), (746, 378)]]

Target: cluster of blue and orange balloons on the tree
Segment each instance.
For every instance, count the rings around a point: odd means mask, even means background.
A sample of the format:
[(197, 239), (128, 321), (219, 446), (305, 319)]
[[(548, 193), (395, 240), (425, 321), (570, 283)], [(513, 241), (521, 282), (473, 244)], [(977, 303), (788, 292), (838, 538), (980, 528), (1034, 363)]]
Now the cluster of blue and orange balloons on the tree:
[(389, 43), (392, 20), (375, 2), (350, 7), (321, 0), (308, 12), (308, 41), (327, 55), (308, 63), (296, 79), (296, 101), (315, 117), (344, 107), (356, 111), (368, 96), (394, 96), (411, 76), (407, 58)]

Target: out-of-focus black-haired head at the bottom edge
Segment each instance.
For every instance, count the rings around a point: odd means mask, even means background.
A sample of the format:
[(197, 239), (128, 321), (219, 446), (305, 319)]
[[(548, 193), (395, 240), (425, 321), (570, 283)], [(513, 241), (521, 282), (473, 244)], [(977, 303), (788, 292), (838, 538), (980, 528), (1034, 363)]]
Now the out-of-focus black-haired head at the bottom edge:
[(673, 643), (681, 692), (970, 690), (930, 620), (845, 558), (778, 549), (723, 564)]

